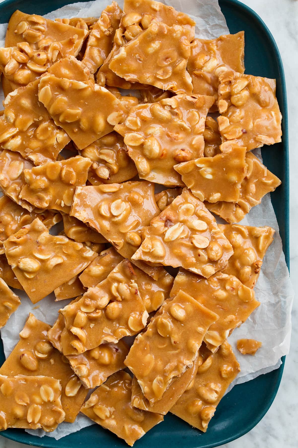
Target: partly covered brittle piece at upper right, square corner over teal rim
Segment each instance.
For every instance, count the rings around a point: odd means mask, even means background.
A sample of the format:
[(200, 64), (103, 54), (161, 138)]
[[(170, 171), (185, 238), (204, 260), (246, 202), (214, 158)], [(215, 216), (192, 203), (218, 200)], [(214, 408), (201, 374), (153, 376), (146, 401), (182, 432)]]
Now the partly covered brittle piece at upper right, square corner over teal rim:
[(194, 39), (187, 69), (193, 80), (193, 93), (214, 96), (217, 105), (219, 74), (225, 70), (244, 73), (244, 31), (218, 39)]

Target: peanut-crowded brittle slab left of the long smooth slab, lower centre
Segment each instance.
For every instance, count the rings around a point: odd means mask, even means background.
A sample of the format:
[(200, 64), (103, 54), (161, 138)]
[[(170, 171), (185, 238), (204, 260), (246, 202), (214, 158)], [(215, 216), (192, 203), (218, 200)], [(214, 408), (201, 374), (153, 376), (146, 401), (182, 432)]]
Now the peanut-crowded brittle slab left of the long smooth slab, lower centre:
[(104, 342), (117, 343), (123, 336), (133, 336), (146, 326), (148, 318), (128, 260), (119, 263), (105, 280), (60, 312), (68, 330), (65, 339), (61, 334), (64, 355), (83, 353)]

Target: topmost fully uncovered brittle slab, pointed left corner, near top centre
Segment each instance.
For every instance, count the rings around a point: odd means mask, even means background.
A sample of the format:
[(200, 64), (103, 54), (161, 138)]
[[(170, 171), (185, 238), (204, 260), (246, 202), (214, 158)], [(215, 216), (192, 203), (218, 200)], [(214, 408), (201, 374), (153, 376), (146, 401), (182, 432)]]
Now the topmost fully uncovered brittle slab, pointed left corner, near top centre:
[(182, 26), (153, 23), (114, 54), (109, 69), (126, 81), (191, 95), (193, 85), (186, 71), (188, 39), (189, 32)]

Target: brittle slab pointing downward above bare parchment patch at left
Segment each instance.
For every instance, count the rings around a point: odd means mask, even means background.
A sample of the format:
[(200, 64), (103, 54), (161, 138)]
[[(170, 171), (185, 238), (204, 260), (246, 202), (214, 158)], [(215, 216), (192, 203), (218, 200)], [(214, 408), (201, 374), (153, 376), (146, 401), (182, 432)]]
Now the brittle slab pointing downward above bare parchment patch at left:
[(38, 218), (4, 242), (8, 263), (32, 303), (79, 274), (96, 258), (88, 247), (49, 234)]

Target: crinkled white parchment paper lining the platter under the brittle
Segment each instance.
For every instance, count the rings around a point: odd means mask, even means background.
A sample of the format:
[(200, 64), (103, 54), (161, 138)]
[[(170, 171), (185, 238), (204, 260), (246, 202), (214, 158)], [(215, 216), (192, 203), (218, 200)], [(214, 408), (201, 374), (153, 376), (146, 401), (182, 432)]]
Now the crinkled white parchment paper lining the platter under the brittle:
[[(123, 7), (123, 1), (119, 1), (118, 3)], [(188, 0), (187, 2), (181, 0), (165, 0), (164, 3), (172, 5), (177, 10), (184, 11), (193, 17), (197, 23), (196, 37), (213, 39), (221, 34), (229, 33), (217, 0)], [(102, 9), (107, 4), (108, 0), (75, 3), (53, 11), (45, 17), (51, 19), (55, 19), (56, 17), (99, 17)], [(6, 29), (7, 24), (0, 24), (0, 46), (4, 46)], [(252, 74), (257, 75), (258, 73)], [(270, 148), (266, 151), (270, 151)], [(261, 159), (260, 150), (255, 150), (254, 153)], [(224, 223), (220, 219), (218, 219), (218, 222)], [(244, 383), (245, 381), (256, 378), (258, 375), (277, 369), (280, 366), (281, 356), (289, 353), (291, 309), (294, 297), (294, 290), (285, 264), (285, 256), (282, 252), (281, 237), (271, 204), (270, 194), (267, 194), (262, 199), (260, 205), (252, 208), (245, 219), (241, 221), (241, 224), (270, 226), (275, 229), (276, 233), (274, 241), (264, 257), (260, 277), (255, 286), (256, 298), (261, 302), (261, 305), (229, 337), (229, 342), (233, 347), (241, 367), (241, 372), (231, 384), (229, 390), (235, 384)], [(55, 229), (52, 232), (54, 233)], [(34, 306), (25, 293), (21, 292), (19, 295), (21, 297), (21, 306), (10, 317), (6, 326), (1, 329), (6, 357), (18, 342), (18, 333), (23, 328), (29, 312), (32, 312), (37, 319), (41, 319), (52, 325), (57, 319), (58, 310), (70, 302), (70, 300), (55, 302), (55, 296), (52, 293)], [(236, 342), (243, 337), (262, 341), (262, 348), (258, 350), (256, 356), (241, 355), (238, 352)], [(40, 437), (46, 434), (49, 437), (60, 439), (71, 432), (79, 431), (81, 428), (92, 424), (93, 422), (91, 420), (80, 414), (76, 418), (75, 423), (63, 422), (51, 433), (45, 433), (42, 430), (26, 431)]]

